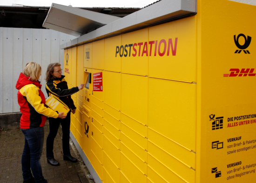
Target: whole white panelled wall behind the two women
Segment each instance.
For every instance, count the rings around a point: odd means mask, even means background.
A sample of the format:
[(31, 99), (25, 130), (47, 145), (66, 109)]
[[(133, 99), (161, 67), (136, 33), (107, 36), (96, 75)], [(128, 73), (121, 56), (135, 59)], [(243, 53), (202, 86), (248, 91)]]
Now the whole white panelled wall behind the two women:
[(74, 38), (76, 37), (49, 29), (0, 27), (0, 114), (20, 111), (15, 85), (20, 72), (29, 62), (41, 65), (41, 89), (47, 98), (47, 66), (49, 63), (59, 62), (63, 69), (64, 50), (60, 50), (60, 45)]

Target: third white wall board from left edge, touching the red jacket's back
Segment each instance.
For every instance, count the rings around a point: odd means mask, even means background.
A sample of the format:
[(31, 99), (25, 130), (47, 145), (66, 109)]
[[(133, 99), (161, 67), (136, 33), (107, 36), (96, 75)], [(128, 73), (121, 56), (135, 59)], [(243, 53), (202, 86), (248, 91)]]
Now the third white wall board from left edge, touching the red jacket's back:
[(22, 34), (22, 29), (13, 28), (13, 113), (20, 112), (15, 85), (22, 72)]

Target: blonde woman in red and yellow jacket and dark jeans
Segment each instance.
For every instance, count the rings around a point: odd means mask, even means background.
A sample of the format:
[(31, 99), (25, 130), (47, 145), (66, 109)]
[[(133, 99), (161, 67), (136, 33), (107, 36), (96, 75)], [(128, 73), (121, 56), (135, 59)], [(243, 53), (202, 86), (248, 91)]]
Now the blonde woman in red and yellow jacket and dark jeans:
[[(44, 143), (44, 124), (46, 116), (66, 118), (51, 108), (45, 107), (45, 96), (40, 82), (41, 67), (38, 63), (28, 63), (16, 83), (20, 105), (20, 129), (25, 135), (25, 145), (21, 158), (23, 183), (47, 183), (42, 175), (40, 157)], [(31, 174), (31, 170), (34, 177)]]

